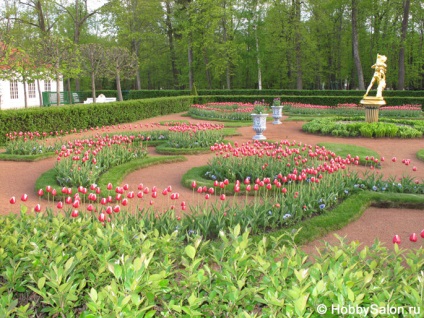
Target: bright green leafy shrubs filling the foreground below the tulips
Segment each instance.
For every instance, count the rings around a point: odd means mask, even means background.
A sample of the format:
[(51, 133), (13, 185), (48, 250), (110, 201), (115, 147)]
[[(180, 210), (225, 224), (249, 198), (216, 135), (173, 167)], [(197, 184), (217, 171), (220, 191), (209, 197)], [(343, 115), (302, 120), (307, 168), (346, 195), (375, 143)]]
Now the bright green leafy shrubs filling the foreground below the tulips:
[(315, 261), (292, 239), (256, 243), (240, 226), (185, 244), (142, 223), (89, 217), (0, 219), (0, 315), (303, 317), (331, 307), (423, 306), (424, 251), (327, 246)]

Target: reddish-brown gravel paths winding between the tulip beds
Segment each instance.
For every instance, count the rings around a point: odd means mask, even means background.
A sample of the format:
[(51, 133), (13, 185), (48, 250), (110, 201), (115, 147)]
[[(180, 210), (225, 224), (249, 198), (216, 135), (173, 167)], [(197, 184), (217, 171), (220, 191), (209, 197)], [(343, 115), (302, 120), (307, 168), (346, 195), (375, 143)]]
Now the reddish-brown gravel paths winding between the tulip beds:
[[(132, 125), (138, 126), (142, 124), (143, 127), (141, 129), (139, 127), (136, 129), (150, 130), (157, 129), (155, 128), (156, 126), (152, 128), (152, 124), (167, 120), (189, 120), (190, 122), (199, 122), (199, 120), (182, 117), (181, 114), (173, 114), (143, 120), (132, 123)], [(269, 123), (264, 134), (269, 140), (274, 141), (287, 139), (289, 141), (295, 140), (297, 142), (301, 141), (302, 143), (313, 145), (318, 142), (333, 142), (368, 147), (386, 159), (382, 162), (382, 169), (378, 170), (377, 173), (382, 173), (385, 177), (398, 178), (401, 176), (411, 176), (421, 182), (424, 180), (424, 162), (416, 158), (417, 151), (424, 148), (423, 139), (366, 139), (316, 136), (302, 132), (302, 124), (301, 122), (283, 122), (282, 125), (272, 125)], [(121, 125), (121, 129), (115, 128), (109, 129), (109, 131), (123, 131), (123, 126), (124, 125)], [(128, 127), (129, 124), (126, 125), (126, 128)], [(227, 139), (237, 141), (240, 144), (242, 142), (251, 141), (254, 135), (251, 127), (238, 128), (238, 132), (241, 134), (240, 136)], [(93, 132), (78, 133), (68, 138), (80, 138), (83, 136), (91, 136), (92, 134)], [(157, 155), (154, 148), (149, 148), (149, 155)], [(162, 189), (171, 185), (173, 192), (180, 193), (180, 199), (177, 200), (177, 202), (170, 202), (169, 199), (165, 198), (156, 199), (154, 206), (160, 210), (165, 209), (171, 203), (175, 203), (178, 213), (181, 201), (185, 201), (187, 204), (196, 204), (199, 202), (199, 196), (197, 194), (193, 194), (191, 190), (182, 187), (181, 176), (191, 167), (205, 165), (211, 156), (212, 154), (190, 155), (186, 156), (188, 160), (185, 162), (162, 164), (140, 169), (126, 176), (123, 184), (129, 184), (130, 189), (133, 190), (137, 189), (139, 183), (143, 183), (149, 187), (157, 186), (160, 196), (162, 196)], [(392, 157), (397, 157), (398, 160), (396, 163), (391, 161)], [(402, 159), (411, 159), (411, 164), (405, 166), (401, 163)], [(12, 196), (16, 196), (19, 201), (23, 193), (27, 193), (29, 197), (25, 205), (29, 209), (33, 209), (33, 207), (40, 202), (34, 190), (35, 181), (43, 172), (54, 166), (55, 160), (55, 158), (50, 158), (32, 163), (0, 161), (0, 214), (19, 212), (19, 204), (10, 205), (9, 199)], [(413, 166), (416, 166), (417, 171), (412, 171)], [(358, 169), (365, 171), (367, 168)], [(148, 202), (149, 200), (145, 200), (143, 204), (148, 206)], [(47, 201), (41, 201), (40, 203), (43, 207), (49, 205)], [(393, 235), (398, 234), (402, 238), (402, 247), (418, 248), (424, 246), (424, 239), (419, 238), (417, 243), (411, 243), (408, 237), (413, 232), (419, 235), (419, 232), (423, 229), (424, 210), (370, 207), (364, 212), (359, 220), (352, 222), (343, 229), (329, 234), (320, 240), (310, 242), (304, 246), (304, 249), (312, 252), (315, 250), (316, 246), (322, 246), (323, 240), (335, 243), (337, 239), (334, 234), (346, 237), (348, 241), (359, 241), (364, 245), (371, 245), (375, 239), (379, 239), (389, 247), (393, 245)]]

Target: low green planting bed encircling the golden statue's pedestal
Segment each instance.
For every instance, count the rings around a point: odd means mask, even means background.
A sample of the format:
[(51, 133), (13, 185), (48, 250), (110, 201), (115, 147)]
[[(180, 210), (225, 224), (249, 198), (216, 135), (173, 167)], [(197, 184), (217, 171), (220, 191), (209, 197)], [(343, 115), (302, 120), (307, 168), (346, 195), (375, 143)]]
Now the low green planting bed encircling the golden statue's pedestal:
[(357, 120), (345, 117), (320, 118), (304, 124), (302, 130), (312, 134), (367, 138), (419, 138), (424, 133), (424, 121), (381, 119), (377, 123), (367, 123), (363, 119)]

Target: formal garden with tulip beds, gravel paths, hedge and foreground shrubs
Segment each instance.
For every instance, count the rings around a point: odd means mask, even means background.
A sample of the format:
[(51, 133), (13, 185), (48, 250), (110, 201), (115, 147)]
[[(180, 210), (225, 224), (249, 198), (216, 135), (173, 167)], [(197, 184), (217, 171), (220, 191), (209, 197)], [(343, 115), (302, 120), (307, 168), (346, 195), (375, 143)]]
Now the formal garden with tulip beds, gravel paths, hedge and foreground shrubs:
[[(2, 112), (2, 178), (27, 169), (34, 182), (2, 194), (1, 315), (419, 317), (422, 218), (407, 235), (384, 220), (388, 244), (304, 246), (371, 206), (422, 213), (422, 111), (381, 109), (368, 124), (360, 106), (282, 101), (273, 124), (279, 102)], [(252, 139), (259, 110), (266, 140)], [(408, 143), (415, 156), (402, 157)]]

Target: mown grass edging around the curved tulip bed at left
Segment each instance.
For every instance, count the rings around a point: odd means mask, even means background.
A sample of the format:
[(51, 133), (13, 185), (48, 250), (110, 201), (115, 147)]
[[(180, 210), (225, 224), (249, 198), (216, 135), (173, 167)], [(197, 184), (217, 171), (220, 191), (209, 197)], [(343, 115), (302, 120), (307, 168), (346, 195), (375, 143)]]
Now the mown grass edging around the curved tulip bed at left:
[[(97, 182), (97, 185), (105, 190), (107, 184), (110, 182), (113, 185), (118, 185), (122, 182), (122, 180), (131, 172), (147, 168), (157, 164), (164, 163), (173, 163), (173, 162), (182, 162), (187, 161), (187, 158), (184, 156), (166, 156), (166, 157), (145, 157), (141, 159), (132, 160), (130, 162), (124, 163), (122, 165), (113, 167), (109, 171), (105, 172), (100, 176), (100, 179)], [(43, 173), (35, 182), (34, 191), (37, 193), (39, 189), (45, 189), (46, 186), (52, 186), (53, 188), (61, 187), (56, 181), (56, 173), (55, 169), (50, 169)], [(58, 194), (56, 199), (63, 199), (62, 193), (60, 193), (60, 189), (58, 190)], [(77, 192), (77, 187), (72, 189), (72, 193)], [(47, 198), (47, 193), (44, 194), (45, 198)]]

